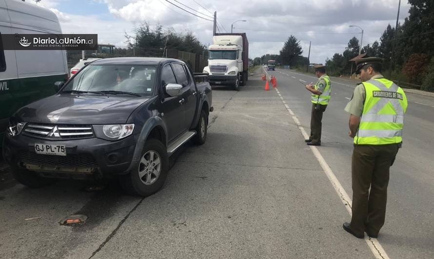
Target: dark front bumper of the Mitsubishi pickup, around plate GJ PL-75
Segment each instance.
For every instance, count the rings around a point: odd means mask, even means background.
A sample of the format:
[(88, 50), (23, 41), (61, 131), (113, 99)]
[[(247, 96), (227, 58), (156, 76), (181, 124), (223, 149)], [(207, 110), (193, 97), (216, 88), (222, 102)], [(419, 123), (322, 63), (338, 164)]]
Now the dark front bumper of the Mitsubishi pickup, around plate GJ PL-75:
[[(25, 168), (45, 177), (94, 175), (101, 178), (128, 173), (138, 137), (139, 134), (118, 141), (100, 138), (52, 141), (23, 135), (5, 136), (3, 157), (12, 170)], [(35, 143), (65, 145), (66, 156), (36, 154)]]

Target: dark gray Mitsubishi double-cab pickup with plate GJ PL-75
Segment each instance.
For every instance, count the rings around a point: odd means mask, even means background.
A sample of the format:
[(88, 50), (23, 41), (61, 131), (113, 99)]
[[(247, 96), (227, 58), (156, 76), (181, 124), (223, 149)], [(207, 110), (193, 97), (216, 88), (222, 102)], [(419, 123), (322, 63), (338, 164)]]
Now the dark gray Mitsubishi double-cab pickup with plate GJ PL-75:
[(9, 122), (3, 156), (26, 186), (118, 177), (128, 193), (148, 196), (163, 185), (170, 155), (206, 140), (211, 86), (180, 60), (101, 59), (56, 87)]

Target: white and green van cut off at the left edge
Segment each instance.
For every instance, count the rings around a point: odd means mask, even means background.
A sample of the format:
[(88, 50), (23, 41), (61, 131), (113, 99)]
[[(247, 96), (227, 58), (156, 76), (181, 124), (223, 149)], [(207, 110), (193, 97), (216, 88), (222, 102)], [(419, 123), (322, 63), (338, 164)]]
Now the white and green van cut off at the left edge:
[[(22, 0), (0, 0), (0, 34), (61, 34), (52, 11)], [(21, 106), (55, 93), (66, 81), (62, 50), (4, 50), (0, 36), (0, 146), (9, 117)]]

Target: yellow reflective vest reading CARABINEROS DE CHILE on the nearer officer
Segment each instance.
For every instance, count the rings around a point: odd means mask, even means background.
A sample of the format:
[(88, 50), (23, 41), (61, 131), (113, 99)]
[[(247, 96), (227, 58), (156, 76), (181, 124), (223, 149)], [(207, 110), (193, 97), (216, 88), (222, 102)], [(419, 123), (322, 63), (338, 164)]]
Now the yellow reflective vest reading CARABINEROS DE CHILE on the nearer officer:
[(354, 143), (385, 145), (402, 142), (407, 97), (401, 87), (385, 78), (363, 82), (366, 99)]

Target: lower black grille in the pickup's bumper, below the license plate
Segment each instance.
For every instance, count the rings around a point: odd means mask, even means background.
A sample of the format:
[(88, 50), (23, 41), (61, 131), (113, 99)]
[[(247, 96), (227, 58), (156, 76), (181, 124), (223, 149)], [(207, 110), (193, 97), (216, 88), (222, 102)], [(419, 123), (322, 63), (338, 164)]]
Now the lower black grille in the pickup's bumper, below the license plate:
[(41, 155), (31, 152), (22, 152), (20, 161), (23, 164), (50, 166), (50, 167), (98, 167), (97, 160), (93, 155)]

